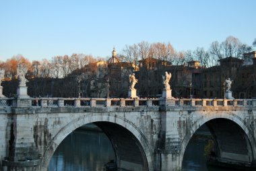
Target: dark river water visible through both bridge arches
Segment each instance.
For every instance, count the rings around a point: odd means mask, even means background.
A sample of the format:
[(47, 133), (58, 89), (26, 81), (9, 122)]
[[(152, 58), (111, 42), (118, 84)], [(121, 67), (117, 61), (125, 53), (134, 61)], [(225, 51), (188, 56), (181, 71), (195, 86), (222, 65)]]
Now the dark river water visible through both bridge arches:
[[(227, 171), (228, 169), (207, 166), (204, 147), (206, 137), (210, 133), (207, 129), (197, 131), (197, 138), (189, 141), (183, 158), (184, 171)], [(200, 138), (203, 137), (203, 138)], [(100, 131), (79, 129), (68, 135), (57, 147), (49, 171), (102, 171), (104, 164), (115, 160), (113, 147), (108, 137)]]

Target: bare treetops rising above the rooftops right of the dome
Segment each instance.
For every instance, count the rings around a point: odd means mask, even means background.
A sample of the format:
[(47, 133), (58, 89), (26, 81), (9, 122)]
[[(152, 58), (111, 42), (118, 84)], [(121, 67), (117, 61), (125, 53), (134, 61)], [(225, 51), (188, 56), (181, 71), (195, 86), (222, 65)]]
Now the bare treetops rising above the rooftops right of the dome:
[(202, 66), (212, 67), (218, 65), (218, 60), (226, 57), (236, 57), (244, 59), (246, 63), (250, 59), (245, 59), (244, 53), (249, 53), (256, 46), (256, 38), (252, 46), (244, 44), (234, 36), (228, 36), (223, 42), (214, 41), (210, 47), (205, 50), (203, 47), (197, 47), (195, 50), (177, 51), (170, 43), (140, 42), (138, 44), (126, 45), (122, 50), (122, 59), (127, 62), (137, 62), (139, 59), (154, 58), (169, 61), (172, 65), (182, 65), (187, 61), (199, 61)]

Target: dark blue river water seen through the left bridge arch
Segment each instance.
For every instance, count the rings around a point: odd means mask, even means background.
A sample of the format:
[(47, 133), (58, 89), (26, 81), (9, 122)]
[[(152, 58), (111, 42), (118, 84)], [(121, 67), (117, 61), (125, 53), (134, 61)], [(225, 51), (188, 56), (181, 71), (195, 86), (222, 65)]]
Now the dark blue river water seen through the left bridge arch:
[(104, 133), (77, 129), (57, 147), (48, 170), (102, 171), (110, 160), (115, 160), (115, 153)]

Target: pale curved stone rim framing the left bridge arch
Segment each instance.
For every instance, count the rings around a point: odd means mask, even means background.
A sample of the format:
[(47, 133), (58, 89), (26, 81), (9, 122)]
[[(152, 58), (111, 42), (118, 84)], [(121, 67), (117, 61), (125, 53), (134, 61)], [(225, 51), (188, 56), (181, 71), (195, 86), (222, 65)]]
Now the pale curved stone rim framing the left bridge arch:
[(114, 123), (116, 125), (119, 125), (120, 127), (123, 127), (127, 131), (129, 131), (135, 139), (137, 139), (138, 143), (141, 145), (143, 152), (143, 155), (146, 158), (147, 162), (147, 170), (154, 170), (154, 156), (152, 154), (152, 149), (150, 147), (150, 144), (148, 143), (148, 140), (143, 135), (143, 133), (140, 131), (138, 127), (136, 127), (131, 121), (128, 121), (126, 118), (123, 118), (121, 116), (117, 116), (115, 114), (100, 114), (100, 113), (90, 113), (90, 114), (84, 114), (83, 116), (79, 116), (78, 118), (74, 118), (72, 121), (67, 123), (67, 125), (64, 125), (62, 129), (60, 129), (51, 142), (49, 143), (48, 147), (44, 151), (44, 154), (42, 155), (42, 161), (41, 161), (41, 168), (42, 170), (47, 170), (47, 167), (49, 165), (49, 162), (51, 160), (51, 157), (53, 156), (53, 153), (72, 131), (75, 129), (82, 127), (82, 125), (86, 125), (88, 123)]

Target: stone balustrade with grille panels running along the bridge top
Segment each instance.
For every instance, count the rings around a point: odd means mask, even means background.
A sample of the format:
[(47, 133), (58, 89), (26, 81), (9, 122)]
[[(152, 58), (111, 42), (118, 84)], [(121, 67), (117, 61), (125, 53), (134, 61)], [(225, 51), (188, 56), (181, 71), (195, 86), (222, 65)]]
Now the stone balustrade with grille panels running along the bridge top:
[[(29, 98), (24, 100), (29, 100), (26, 106), (34, 107), (256, 106), (256, 99)], [(15, 98), (0, 98), (0, 108), (19, 106), (17, 101)]]

